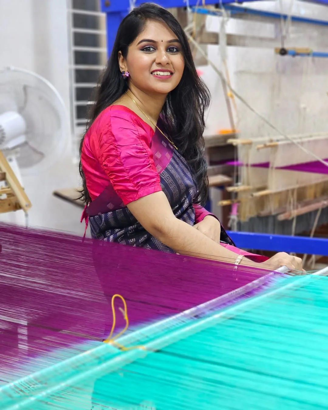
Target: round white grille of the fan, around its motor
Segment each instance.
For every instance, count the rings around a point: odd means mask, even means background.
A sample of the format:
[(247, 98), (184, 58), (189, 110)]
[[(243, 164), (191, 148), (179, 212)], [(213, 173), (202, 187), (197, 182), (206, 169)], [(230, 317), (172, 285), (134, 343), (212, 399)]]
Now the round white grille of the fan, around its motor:
[[(56, 89), (29, 71), (0, 70), (0, 114), (9, 110), (21, 114), (27, 125), (27, 142), (18, 147), (22, 171), (56, 162), (69, 136), (66, 109)], [(2, 137), (4, 130), (0, 128), (0, 141)]]

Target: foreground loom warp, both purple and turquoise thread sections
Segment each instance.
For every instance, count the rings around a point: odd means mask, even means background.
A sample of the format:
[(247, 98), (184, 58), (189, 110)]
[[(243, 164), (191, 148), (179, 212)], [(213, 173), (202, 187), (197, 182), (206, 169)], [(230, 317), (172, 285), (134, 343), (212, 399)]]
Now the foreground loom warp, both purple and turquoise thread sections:
[(328, 407), (327, 269), (10, 225), (0, 244), (3, 410)]

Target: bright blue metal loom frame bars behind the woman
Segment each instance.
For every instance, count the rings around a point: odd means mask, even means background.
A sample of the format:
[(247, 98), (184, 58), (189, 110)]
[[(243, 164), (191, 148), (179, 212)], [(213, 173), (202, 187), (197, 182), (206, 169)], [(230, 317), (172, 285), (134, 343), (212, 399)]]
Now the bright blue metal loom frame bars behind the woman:
[[(137, 0), (135, 5), (138, 6), (144, 3), (146, 0)], [(244, 0), (246, 2), (254, 2), (261, 0)], [(100, 0), (101, 11), (107, 14), (107, 54), (110, 56), (112, 47), (115, 41), (116, 32), (123, 18), (128, 14), (130, 2), (129, 0)], [(189, 0), (189, 6), (197, 6), (198, 0)], [(165, 8), (174, 7), (186, 7), (186, 0), (157, 0), (157, 4)], [(231, 0), (221, 0), (221, 4), (225, 5), (225, 8), (233, 14), (249, 14), (253, 16), (259, 16), (264, 18), (283, 18), (288, 16), (280, 13), (267, 12), (262, 10), (249, 9), (245, 7), (239, 7), (231, 5)], [(218, 0), (206, 0), (206, 5), (219, 4)], [(322, 1), (321, 4), (325, 4)], [(327, 3), (326, 3), (327, 4)], [(200, 9), (198, 12), (203, 12)], [(219, 11), (219, 10), (218, 10)], [(210, 12), (207, 11), (209, 14)], [(292, 21), (297, 23), (324, 25), (328, 26), (328, 21), (315, 20), (311, 18), (303, 18), (298, 16), (292, 16)], [(319, 53), (318, 53), (319, 54)], [(326, 54), (326, 53), (323, 53)], [(313, 56), (314, 57), (314, 56)], [(316, 57), (327, 57), (326, 55), (318, 55)], [(309, 255), (322, 255), (328, 256), (328, 241), (321, 238), (308, 238), (308, 237), (293, 237), (287, 235), (270, 235), (260, 234), (252, 232), (232, 232), (229, 231), (228, 235), (232, 240), (243, 249), (256, 249), (260, 251), (274, 251), (274, 252), (294, 252), (294, 253), (307, 253)]]

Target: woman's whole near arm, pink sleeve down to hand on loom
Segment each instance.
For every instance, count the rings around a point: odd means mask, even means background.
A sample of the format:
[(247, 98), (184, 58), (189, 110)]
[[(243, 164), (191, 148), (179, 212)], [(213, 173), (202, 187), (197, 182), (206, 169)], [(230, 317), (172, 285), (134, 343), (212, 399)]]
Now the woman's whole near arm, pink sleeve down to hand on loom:
[[(116, 194), (151, 235), (179, 253), (235, 262), (236, 253), (175, 218), (162, 192), (150, 149), (151, 136), (134, 123), (131, 113), (115, 107), (104, 110), (96, 130), (92, 140), (95, 156)], [(301, 266), (299, 258), (287, 254), (275, 257), (268, 261), (271, 269)], [(241, 264), (261, 266), (245, 258)]]

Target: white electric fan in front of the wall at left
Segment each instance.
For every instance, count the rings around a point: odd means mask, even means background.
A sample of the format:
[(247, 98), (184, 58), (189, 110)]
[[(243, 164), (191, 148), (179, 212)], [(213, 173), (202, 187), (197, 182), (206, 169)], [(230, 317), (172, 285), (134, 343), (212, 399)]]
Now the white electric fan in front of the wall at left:
[[(50, 82), (20, 68), (0, 69), (0, 151), (22, 186), (24, 175), (46, 172), (63, 154), (67, 129), (64, 102)], [(25, 215), (0, 214), (0, 221), (23, 225)]]

